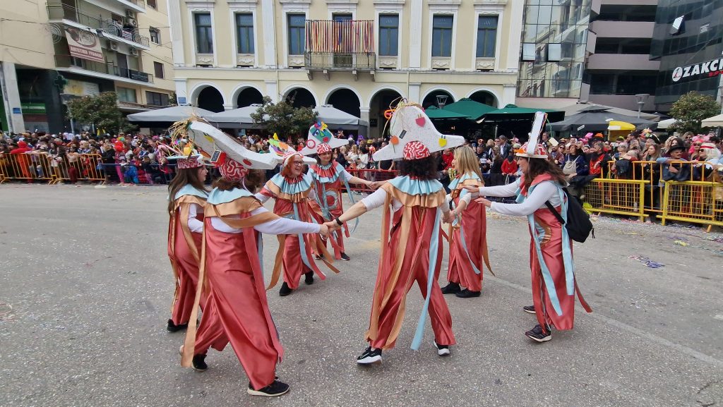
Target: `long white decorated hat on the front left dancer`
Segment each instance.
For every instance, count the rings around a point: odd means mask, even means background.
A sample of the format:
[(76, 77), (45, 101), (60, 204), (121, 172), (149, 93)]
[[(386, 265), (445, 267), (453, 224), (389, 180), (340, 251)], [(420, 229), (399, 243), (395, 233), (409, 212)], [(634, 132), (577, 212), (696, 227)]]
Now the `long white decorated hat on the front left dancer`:
[(175, 132), (182, 129), (194, 145), (211, 155), (211, 162), (216, 166), (221, 165), (227, 158), (236, 161), (236, 163), (243, 165), (247, 169), (270, 170), (276, 166), (276, 161), (269, 154), (259, 154), (247, 150), (234, 137), (202, 119), (192, 118), (176, 122), (173, 128)]

